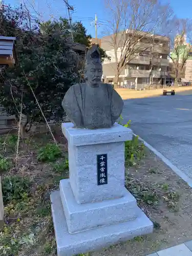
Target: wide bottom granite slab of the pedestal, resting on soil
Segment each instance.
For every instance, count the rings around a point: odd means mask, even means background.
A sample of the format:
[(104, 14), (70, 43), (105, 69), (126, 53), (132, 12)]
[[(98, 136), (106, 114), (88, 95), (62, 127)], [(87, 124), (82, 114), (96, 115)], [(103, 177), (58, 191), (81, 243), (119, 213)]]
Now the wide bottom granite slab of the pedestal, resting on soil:
[(138, 208), (138, 217), (135, 220), (73, 234), (70, 234), (68, 231), (59, 191), (51, 193), (51, 209), (57, 244), (57, 256), (72, 256), (78, 253), (103, 249), (113, 244), (153, 232), (153, 223), (140, 208)]

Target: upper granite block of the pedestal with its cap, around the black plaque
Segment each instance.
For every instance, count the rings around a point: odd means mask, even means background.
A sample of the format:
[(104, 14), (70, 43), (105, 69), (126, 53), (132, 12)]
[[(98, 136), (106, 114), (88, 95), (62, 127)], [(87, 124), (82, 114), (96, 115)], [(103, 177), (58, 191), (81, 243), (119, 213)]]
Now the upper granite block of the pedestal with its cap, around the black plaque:
[[(124, 140), (132, 138), (132, 131), (117, 124), (109, 129), (94, 130), (94, 135), (92, 130), (71, 129), (71, 125), (63, 124), (68, 139), (70, 184), (76, 201), (88, 203), (124, 196)], [(105, 143), (97, 144), (99, 137)], [(84, 145), (84, 141), (88, 145)], [(97, 155), (102, 154), (108, 158), (108, 184), (98, 189)]]

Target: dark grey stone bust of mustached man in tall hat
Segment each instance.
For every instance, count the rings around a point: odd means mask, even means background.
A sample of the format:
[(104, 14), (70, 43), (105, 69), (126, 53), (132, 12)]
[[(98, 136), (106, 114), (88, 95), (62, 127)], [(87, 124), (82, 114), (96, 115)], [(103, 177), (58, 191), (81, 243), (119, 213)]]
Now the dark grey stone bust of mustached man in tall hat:
[(113, 126), (123, 109), (123, 100), (111, 84), (102, 83), (99, 49), (93, 45), (86, 54), (87, 82), (74, 84), (62, 100), (62, 107), (75, 127), (100, 129)]

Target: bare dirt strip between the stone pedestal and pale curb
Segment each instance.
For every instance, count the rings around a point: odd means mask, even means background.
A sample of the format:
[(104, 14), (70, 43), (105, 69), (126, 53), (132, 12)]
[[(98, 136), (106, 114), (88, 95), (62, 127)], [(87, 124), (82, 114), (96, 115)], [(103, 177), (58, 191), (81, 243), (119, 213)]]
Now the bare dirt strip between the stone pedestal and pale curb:
[(153, 221), (154, 233), (92, 256), (144, 256), (192, 239), (192, 190), (152, 152), (147, 150), (139, 165), (126, 168), (125, 186)]

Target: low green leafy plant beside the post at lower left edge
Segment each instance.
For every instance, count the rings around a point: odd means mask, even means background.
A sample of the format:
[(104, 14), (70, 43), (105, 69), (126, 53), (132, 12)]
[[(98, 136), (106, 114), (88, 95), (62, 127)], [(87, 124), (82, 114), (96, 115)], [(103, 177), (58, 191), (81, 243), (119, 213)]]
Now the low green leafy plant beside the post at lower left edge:
[(30, 181), (19, 176), (6, 176), (2, 179), (2, 193), (4, 204), (13, 200), (22, 200), (30, 195)]

